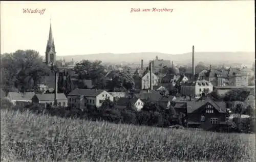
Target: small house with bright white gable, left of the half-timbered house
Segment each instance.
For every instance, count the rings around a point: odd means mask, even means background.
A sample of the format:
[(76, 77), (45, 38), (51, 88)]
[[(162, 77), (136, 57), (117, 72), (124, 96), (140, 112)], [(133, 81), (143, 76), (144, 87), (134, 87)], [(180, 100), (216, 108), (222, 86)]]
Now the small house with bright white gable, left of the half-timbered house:
[(126, 109), (127, 107), (131, 106), (131, 109), (136, 111), (140, 111), (143, 108), (144, 102), (136, 97), (127, 98), (121, 97), (116, 102), (117, 109)]

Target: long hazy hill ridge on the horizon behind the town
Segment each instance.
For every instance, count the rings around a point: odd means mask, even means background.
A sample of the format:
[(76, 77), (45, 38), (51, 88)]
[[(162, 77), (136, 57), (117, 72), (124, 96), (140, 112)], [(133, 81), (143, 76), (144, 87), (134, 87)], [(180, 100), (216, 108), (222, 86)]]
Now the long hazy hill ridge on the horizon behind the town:
[[(175, 64), (191, 64), (192, 53), (183, 53), (180, 55), (170, 55), (160, 52), (138, 52), (138, 53), (98, 53), (90, 55), (73, 55), (73, 56), (57, 56), (58, 59), (65, 58), (66, 61), (80, 60), (101, 60), (102, 62), (111, 63), (140, 63), (141, 59), (144, 63), (153, 60), (158, 56), (159, 59), (170, 60)], [(211, 64), (233, 64), (243, 63), (252, 64), (255, 59), (254, 52), (195, 52), (195, 63), (204, 62)]]

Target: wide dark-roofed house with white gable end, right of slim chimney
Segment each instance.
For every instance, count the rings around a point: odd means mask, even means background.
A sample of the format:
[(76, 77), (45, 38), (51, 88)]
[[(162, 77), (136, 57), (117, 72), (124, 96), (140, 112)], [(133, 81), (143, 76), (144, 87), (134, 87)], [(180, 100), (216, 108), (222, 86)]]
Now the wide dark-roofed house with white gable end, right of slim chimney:
[(68, 94), (69, 106), (79, 109), (99, 107), (105, 99), (114, 101), (114, 97), (104, 90), (77, 88)]

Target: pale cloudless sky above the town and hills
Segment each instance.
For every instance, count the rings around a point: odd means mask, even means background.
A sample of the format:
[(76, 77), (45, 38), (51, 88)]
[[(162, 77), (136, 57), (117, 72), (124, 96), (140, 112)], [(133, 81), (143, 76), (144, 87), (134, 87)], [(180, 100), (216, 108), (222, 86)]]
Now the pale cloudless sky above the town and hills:
[(254, 1), (1, 1), (1, 54), (34, 49), (44, 56), (50, 19), (58, 56), (181, 54), (192, 45), (196, 51), (255, 51)]

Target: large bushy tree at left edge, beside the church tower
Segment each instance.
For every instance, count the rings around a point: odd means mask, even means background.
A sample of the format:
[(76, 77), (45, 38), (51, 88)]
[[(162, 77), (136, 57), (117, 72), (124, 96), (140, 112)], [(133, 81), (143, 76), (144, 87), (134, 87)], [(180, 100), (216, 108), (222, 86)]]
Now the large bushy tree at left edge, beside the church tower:
[(51, 73), (35, 50), (16, 50), (1, 56), (2, 86), (6, 92), (15, 87), (20, 92), (35, 90), (40, 79)]

